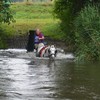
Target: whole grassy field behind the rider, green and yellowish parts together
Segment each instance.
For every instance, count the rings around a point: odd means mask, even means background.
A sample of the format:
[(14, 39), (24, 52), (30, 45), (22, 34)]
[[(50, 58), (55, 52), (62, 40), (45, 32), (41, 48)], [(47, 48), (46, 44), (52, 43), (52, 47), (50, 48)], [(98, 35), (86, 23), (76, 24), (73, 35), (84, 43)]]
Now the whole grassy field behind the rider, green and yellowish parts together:
[(29, 30), (39, 28), (44, 35), (60, 38), (58, 20), (53, 17), (52, 3), (15, 3), (11, 5), (15, 23), (10, 26), (12, 34), (25, 34)]

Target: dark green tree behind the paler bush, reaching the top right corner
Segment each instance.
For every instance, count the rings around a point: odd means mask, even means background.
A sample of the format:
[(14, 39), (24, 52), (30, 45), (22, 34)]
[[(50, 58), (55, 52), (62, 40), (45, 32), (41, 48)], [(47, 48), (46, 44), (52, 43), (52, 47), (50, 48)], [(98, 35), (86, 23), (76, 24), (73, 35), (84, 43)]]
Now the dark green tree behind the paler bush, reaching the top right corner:
[(65, 33), (67, 44), (75, 43), (73, 20), (77, 13), (88, 3), (97, 3), (100, 0), (55, 0), (54, 15), (61, 20), (61, 29)]

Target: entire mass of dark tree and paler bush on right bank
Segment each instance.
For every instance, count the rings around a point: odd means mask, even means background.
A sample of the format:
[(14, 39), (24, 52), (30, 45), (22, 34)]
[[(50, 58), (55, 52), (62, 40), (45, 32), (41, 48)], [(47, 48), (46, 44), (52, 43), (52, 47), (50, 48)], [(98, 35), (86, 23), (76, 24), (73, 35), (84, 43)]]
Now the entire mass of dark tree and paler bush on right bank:
[(100, 0), (55, 0), (54, 13), (77, 60), (100, 60)]

